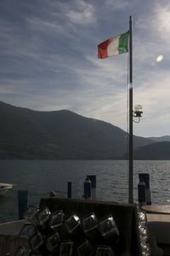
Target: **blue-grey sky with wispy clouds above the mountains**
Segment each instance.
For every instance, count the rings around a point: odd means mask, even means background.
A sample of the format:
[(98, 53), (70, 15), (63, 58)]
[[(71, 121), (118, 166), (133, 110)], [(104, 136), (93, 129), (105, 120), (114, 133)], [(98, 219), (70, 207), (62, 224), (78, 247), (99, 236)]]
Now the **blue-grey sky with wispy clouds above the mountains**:
[(135, 135), (170, 135), (169, 0), (1, 0), (0, 100), (36, 111), (70, 110), (128, 130), (128, 54), (97, 45), (133, 16)]

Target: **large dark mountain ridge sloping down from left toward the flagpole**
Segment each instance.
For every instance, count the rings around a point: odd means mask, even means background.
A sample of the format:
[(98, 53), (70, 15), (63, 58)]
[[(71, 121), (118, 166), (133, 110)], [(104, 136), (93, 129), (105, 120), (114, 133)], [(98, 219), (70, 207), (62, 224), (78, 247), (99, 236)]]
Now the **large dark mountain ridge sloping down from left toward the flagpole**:
[[(1, 159), (117, 159), (127, 133), (71, 111), (32, 111), (0, 101)], [(134, 136), (134, 148), (151, 139)]]

